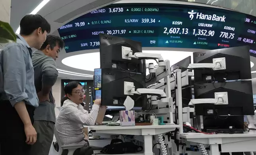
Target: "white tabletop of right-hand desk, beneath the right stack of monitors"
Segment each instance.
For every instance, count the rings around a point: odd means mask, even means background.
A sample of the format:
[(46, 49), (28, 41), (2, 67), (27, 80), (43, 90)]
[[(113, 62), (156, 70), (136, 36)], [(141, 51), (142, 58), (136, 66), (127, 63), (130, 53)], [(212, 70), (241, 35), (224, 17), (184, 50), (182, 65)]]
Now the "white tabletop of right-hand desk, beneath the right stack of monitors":
[(243, 134), (202, 134), (202, 133), (184, 133), (180, 134), (180, 138), (239, 138), (239, 137), (256, 137), (256, 133), (245, 132)]

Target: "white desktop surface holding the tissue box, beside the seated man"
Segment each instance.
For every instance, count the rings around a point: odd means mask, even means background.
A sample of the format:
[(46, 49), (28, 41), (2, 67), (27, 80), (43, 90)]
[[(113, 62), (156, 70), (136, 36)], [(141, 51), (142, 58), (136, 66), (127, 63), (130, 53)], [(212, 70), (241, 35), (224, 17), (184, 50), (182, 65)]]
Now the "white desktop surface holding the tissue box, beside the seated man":
[(120, 130), (120, 129), (163, 129), (163, 128), (177, 128), (179, 125), (137, 125), (137, 126), (108, 126), (108, 125), (95, 125), (90, 126), (91, 130)]

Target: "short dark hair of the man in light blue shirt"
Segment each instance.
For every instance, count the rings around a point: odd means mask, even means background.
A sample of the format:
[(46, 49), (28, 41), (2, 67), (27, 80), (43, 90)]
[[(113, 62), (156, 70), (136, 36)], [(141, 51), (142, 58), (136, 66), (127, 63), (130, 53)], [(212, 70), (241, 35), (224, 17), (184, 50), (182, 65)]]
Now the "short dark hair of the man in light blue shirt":
[(43, 32), (50, 33), (50, 24), (41, 15), (25, 15), (19, 23), (19, 34), (28, 36), (37, 28), (41, 27)]

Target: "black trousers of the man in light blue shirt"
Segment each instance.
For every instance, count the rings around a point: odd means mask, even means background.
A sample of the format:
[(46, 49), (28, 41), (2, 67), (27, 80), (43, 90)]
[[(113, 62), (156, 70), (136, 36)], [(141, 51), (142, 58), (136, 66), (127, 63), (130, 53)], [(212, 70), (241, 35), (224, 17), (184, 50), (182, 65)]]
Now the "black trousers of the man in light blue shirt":
[[(33, 106), (26, 105), (34, 122)], [(0, 101), (0, 155), (28, 155), (31, 145), (26, 144), (24, 125), (15, 108), (6, 100)]]

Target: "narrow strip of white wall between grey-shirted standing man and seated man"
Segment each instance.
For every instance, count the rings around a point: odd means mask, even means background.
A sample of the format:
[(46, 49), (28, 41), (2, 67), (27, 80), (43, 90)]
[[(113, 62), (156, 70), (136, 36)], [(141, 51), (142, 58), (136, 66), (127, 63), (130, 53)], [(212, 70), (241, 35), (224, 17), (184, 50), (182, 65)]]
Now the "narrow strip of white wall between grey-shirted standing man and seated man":
[(55, 98), (55, 115), (59, 114), (59, 110), (56, 107), (60, 107), (61, 100), (61, 78), (58, 77), (55, 85), (52, 86), (52, 95)]

